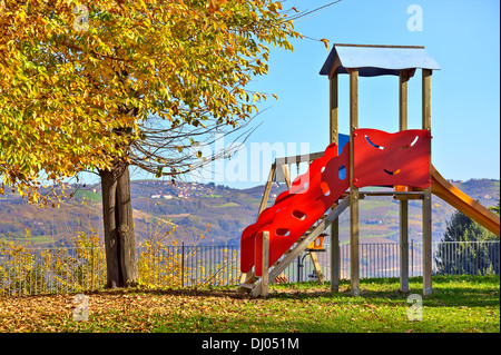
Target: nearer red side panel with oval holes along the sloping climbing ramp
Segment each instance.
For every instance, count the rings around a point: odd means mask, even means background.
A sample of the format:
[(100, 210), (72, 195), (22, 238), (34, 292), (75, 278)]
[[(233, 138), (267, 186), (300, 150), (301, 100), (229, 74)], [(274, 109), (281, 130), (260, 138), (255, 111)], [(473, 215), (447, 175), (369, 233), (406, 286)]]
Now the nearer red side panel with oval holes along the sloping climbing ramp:
[[(325, 157), (325, 158), (324, 158)], [(316, 159), (310, 166), (307, 190), (294, 194), (289, 206), (278, 210), (273, 221), (255, 237), (255, 274), (262, 275), (263, 231), (269, 231), (269, 265), (274, 264), (350, 187), (350, 146), (337, 157)], [(340, 170), (343, 179), (340, 178)]]

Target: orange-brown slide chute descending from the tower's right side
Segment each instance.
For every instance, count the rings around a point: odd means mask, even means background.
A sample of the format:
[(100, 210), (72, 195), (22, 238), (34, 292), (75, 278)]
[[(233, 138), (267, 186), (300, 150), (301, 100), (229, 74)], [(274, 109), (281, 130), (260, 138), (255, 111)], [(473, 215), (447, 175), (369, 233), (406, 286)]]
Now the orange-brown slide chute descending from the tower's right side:
[(500, 218), (497, 214), (473, 200), (463, 191), (445, 180), (432, 166), (432, 194), (460, 210), (498, 237), (500, 236)]

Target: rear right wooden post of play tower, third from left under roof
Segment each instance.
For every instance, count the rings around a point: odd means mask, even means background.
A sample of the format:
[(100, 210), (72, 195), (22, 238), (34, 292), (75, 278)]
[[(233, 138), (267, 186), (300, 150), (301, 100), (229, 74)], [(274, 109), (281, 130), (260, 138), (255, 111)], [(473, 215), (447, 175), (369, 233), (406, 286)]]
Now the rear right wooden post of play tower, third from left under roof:
[[(409, 70), (400, 71), (400, 130), (409, 129)], [(409, 201), (400, 201), (400, 290), (409, 292)]]

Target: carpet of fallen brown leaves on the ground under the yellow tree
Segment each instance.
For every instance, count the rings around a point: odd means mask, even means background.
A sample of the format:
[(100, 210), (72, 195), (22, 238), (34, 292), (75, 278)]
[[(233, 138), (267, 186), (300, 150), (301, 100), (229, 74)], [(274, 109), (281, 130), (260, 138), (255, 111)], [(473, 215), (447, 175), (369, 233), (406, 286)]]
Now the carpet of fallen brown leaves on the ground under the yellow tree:
[[(242, 307), (252, 299), (239, 296), (197, 296), (195, 293), (104, 292), (87, 295), (88, 318), (78, 321), (81, 307), (76, 295), (0, 297), (0, 332), (148, 332), (158, 322), (171, 331), (186, 322), (214, 323), (217, 314), (222, 331), (226, 318), (240, 316)], [(76, 310), (77, 309), (77, 310)], [(75, 317), (77, 312), (77, 319)], [(196, 326), (193, 325), (193, 326)], [(229, 329), (228, 329), (229, 331)]]

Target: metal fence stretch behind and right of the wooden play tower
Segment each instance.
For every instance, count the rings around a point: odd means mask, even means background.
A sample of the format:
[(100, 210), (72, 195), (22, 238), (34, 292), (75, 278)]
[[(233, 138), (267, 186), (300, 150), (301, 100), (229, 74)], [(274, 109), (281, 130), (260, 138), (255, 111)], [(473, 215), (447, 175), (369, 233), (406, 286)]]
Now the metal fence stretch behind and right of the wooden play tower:
[[(350, 245), (340, 246), (340, 277), (350, 279)], [(330, 245), (316, 253), (322, 273), (331, 279)], [(500, 241), (434, 241), (432, 243), (434, 275), (500, 275)], [(317, 279), (307, 254), (298, 257), (285, 272), (289, 282)], [(409, 243), (409, 276), (423, 275), (423, 244)], [(400, 277), (400, 244), (360, 244), (360, 277)]]

